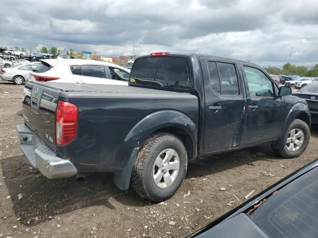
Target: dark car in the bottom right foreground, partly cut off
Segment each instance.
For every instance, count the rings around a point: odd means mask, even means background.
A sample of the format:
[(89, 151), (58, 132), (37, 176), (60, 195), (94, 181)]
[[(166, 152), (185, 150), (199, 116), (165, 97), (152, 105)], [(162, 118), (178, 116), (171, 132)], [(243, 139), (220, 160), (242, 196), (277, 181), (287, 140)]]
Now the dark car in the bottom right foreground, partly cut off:
[(318, 160), (184, 238), (318, 238)]

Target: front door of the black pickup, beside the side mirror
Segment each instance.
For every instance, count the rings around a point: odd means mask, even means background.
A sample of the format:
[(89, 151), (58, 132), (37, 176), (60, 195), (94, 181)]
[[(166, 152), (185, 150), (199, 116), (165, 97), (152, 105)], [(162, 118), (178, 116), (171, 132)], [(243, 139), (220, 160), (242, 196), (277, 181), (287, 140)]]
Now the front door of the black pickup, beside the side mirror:
[(242, 145), (278, 138), (285, 121), (285, 102), (278, 87), (261, 69), (243, 65), (247, 116)]

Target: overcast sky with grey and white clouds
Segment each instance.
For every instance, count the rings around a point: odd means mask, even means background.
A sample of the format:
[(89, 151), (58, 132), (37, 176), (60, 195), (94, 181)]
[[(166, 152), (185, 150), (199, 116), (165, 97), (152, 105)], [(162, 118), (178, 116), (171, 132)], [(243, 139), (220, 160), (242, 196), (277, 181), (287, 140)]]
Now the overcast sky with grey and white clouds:
[(1, 0), (0, 46), (318, 63), (318, 0)]

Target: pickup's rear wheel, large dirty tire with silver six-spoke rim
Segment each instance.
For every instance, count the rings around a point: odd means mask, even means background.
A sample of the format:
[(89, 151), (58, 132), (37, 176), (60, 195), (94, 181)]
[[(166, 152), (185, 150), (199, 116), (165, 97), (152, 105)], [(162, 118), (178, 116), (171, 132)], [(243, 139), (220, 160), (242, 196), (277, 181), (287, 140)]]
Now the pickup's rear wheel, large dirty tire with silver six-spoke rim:
[(136, 156), (132, 171), (133, 188), (143, 198), (164, 201), (172, 197), (181, 185), (187, 164), (186, 148), (179, 138), (168, 133), (154, 134)]

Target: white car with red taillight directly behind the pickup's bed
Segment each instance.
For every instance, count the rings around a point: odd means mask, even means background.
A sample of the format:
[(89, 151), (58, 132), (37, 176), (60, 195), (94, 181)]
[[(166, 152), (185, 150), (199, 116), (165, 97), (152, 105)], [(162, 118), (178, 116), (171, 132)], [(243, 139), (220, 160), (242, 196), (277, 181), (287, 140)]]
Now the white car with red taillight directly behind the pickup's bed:
[(128, 85), (130, 70), (96, 60), (50, 59), (30, 73), (30, 81)]

